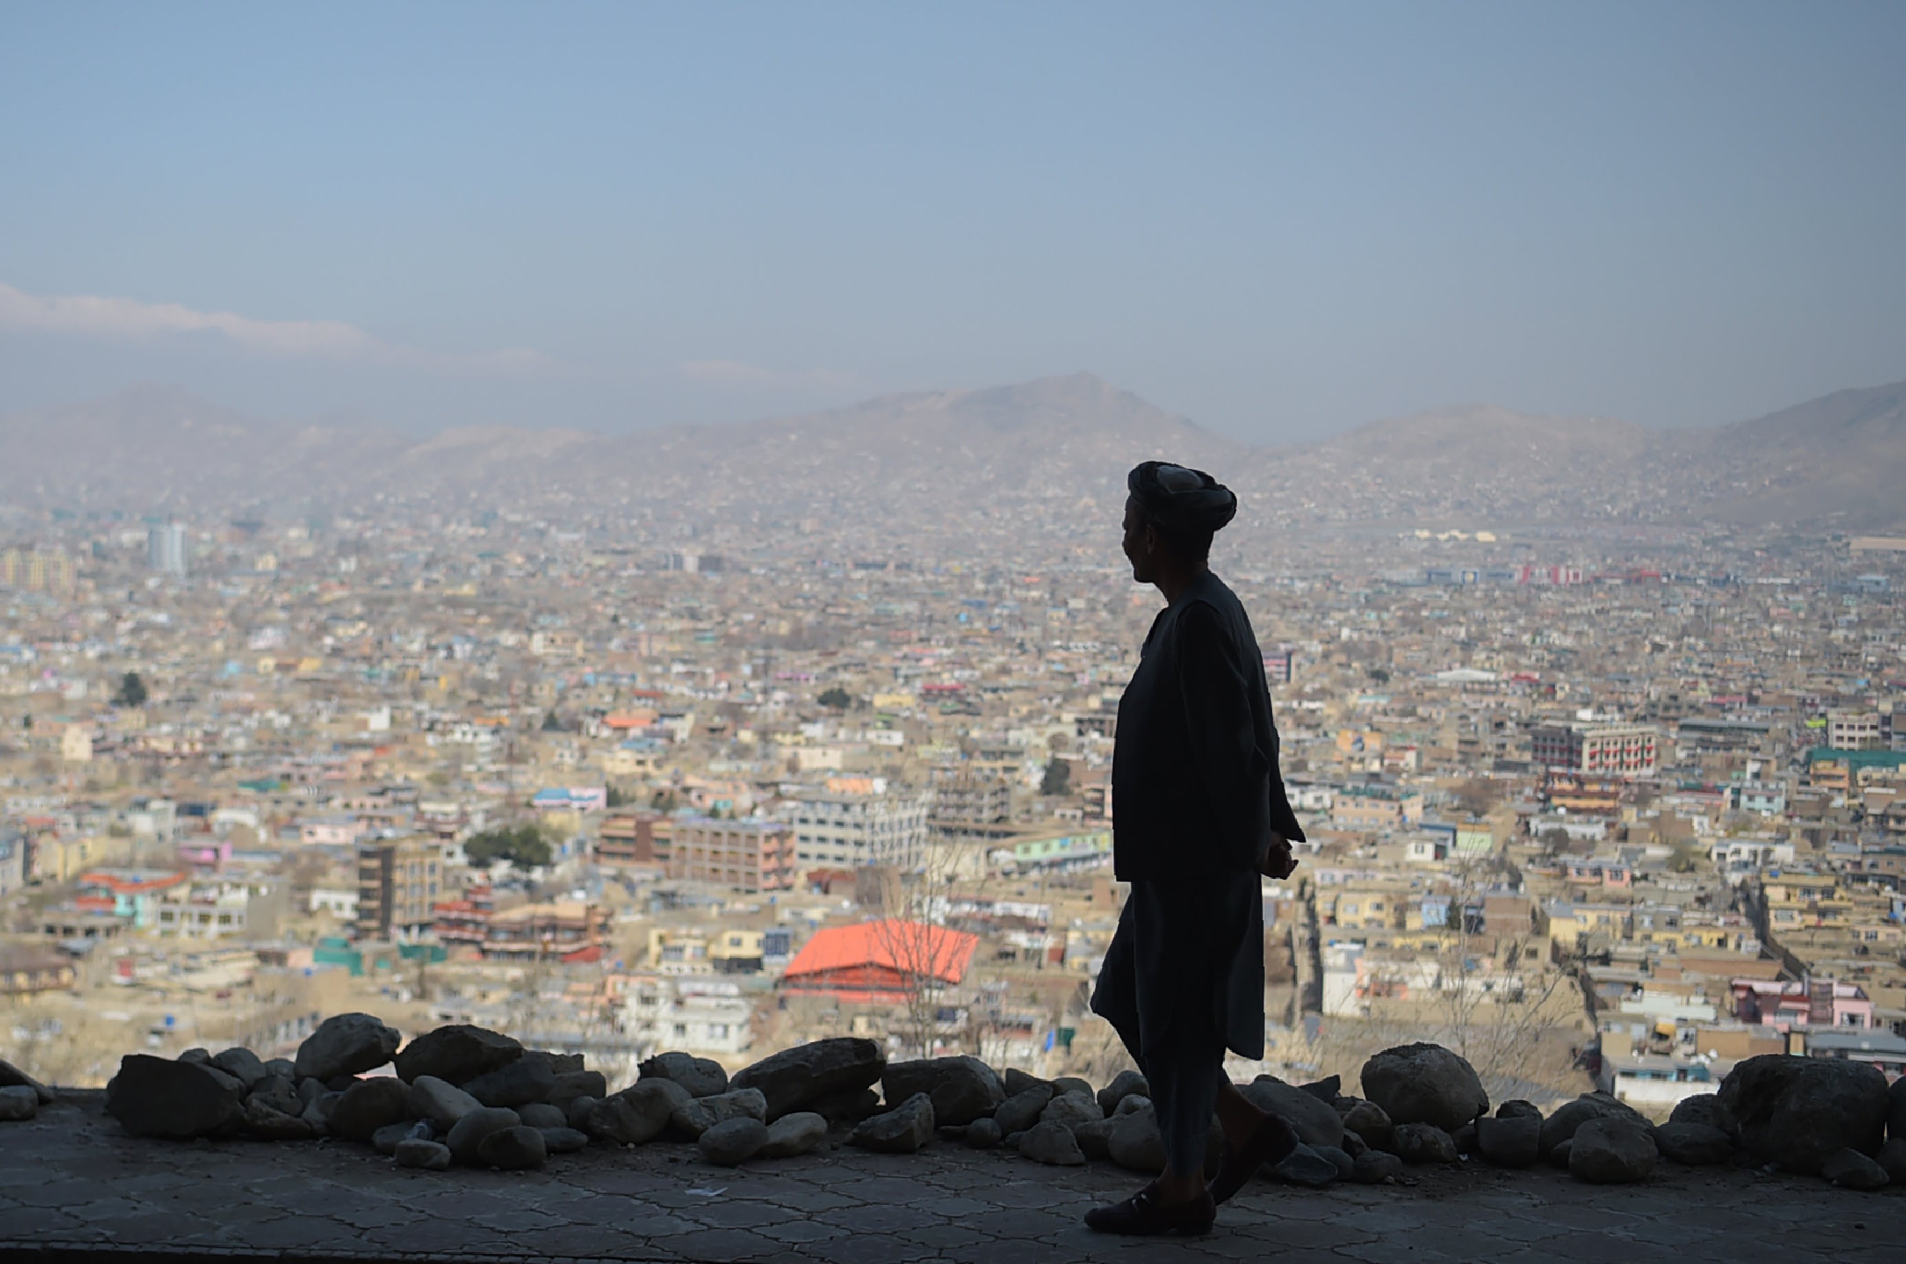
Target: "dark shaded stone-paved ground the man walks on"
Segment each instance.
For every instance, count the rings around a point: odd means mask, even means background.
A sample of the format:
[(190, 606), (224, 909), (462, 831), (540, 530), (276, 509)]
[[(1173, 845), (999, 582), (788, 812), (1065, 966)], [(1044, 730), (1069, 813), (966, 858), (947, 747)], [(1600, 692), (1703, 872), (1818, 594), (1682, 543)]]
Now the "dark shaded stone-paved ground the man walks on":
[(1254, 1182), (1201, 1239), (1117, 1239), (1079, 1216), (1138, 1178), (934, 1142), (717, 1169), (694, 1146), (593, 1146), (541, 1172), (404, 1171), (339, 1142), (151, 1142), (103, 1094), (0, 1125), (0, 1258), (1050, 1264), (1342, 1258), (1365, 1264), (1898, 1264), (1906, 1190), (1853, 1193), (1744, 1169), (1645, 1186), (1414, 1169), (1414, 1186)]

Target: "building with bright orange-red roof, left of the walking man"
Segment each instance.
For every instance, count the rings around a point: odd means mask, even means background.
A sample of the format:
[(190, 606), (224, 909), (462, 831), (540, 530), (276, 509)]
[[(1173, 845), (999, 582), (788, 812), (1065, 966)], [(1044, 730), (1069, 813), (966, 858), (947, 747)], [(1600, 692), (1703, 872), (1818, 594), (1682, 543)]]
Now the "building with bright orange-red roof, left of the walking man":
[(917, 988), (951, 988), (966, 978), (980, 936), (923, 921), (882, 917), (816, 930), (781, 972), (789, 995), (894, 1005)]

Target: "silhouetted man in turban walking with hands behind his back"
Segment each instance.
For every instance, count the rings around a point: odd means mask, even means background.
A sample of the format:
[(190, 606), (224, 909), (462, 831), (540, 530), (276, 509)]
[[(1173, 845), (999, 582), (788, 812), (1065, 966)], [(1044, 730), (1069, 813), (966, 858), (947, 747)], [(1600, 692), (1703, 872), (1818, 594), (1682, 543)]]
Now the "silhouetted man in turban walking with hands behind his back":
[[(1146, 1073), (1165, 1172), (1086, 1224), (1203, 1233), (1218, 1203), (1296, 1146), (1224, 1075), (1264, 1056), (1260, 873), (1288, 877), (1304, 829), (1277, 770), (1264, 658), (1237, 595), (1206, 564), (1237, 498), (1210, 475), (1146, 461), (1126, 479), (1125, 557), (1168, 602), (1119, 702), (1113, 875), (1130, 883), (1092, 1009)], [(1212, 1113), (1226, 1153), (1205, 1184)]]

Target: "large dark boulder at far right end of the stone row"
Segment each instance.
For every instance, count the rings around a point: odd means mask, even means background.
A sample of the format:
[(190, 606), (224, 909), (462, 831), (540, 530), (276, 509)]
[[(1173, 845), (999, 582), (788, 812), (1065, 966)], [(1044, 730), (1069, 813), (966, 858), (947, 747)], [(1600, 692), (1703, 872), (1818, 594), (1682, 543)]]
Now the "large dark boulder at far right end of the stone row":
[(1818, 1172), (1837, 1150), (1879, 1150), (1891, 1102), (1887, 1077), (1864, 1062), (1761, 1054), (1734, 1064), (1717, 1106), (1757, 1163)]

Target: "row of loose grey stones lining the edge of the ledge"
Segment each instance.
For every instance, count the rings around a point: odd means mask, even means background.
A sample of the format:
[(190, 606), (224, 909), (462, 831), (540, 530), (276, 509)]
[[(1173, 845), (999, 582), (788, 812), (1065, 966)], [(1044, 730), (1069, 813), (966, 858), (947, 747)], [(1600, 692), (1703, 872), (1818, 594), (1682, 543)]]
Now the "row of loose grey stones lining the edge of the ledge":
[[(395, 1070), (366, 1075), (366, 1071)], [(1546, 1163), (1576, 1180), (1647, 1180), (1681, 1165), (1754, 1163), (1879, 1190), (1906, 1182), (1906, 1081), (1870, 1066), (1797, 1056), (1738, 1064), (1719, 1092), (1681, 1102), (1654, 1125), (1605, 1092), (1551, 1113), (1502, 1102), (1490, 1113), (1475, 1070), (1439, 1045), (1386, 1049), (1363, 1066), (1365, 1096), (1336, 1075), (1287, 1085), (1260, 1075), (1241, 1091), (1298, 1136), (1264, 1174), (1300, 1186), (1397, 1182), (1409, 1167), (1468, 1159), (1502, 1169)], [(0, 1119), (30, 1115), (50, 1092), (0, 1062)], [(473, 1026), (429, 1031), (398, 1050), (370, 1014), (326, 1020), (295, 1060), (246, 1049), (130, 1054), (107, 1110), (135, 1136), (368, 1142), (402, 1167), (536, 1169), (595, 1144), (694, 1142), (709, 1163), (806, 1153), (841, 1134), (850, 1146), (913, 1153), (943, 1138), (1010, 1150), (1035, 1163), (1092, 1159), (1165, 1169), (1146, 1077), (1083, 1079), (997, 1071), (968, 1056), (886, 1062), (867, 1039), (839, 1037), (764, 1058), (730, 1077), (717, 1062), (665, 1052), (608, 1092), (578, 1054), (528, 1050)], [(1212, 1125), (1206, 1171), (1224, 1157)]]

